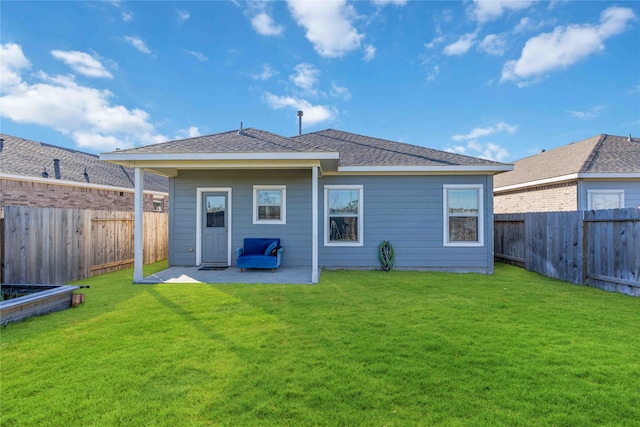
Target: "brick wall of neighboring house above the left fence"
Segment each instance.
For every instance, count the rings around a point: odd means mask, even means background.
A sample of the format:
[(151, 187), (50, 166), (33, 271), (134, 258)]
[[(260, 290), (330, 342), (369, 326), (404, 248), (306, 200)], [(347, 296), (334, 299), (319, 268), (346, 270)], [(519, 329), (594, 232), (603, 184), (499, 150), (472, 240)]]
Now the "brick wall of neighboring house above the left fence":
[[(163, 212), (167, 212), (167, 196), (164, 196), (163, 205)], [(0, 206), (133, 211), (133, 193), (0, 179)], [(150, 194), (144, 196), (144, 210), (153, 211)]]

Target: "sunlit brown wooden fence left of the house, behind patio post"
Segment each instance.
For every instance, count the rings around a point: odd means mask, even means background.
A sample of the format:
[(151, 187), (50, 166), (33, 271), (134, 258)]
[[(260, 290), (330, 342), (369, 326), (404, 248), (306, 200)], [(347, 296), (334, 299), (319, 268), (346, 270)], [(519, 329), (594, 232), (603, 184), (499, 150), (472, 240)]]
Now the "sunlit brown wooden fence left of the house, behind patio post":
[[(3, 283), (65, 283), (133, 266), (133, 212), (7, 206), (3, 222)], [(167, 214), (145, 212), (143, 224), (144, 263), (166, 259)]]

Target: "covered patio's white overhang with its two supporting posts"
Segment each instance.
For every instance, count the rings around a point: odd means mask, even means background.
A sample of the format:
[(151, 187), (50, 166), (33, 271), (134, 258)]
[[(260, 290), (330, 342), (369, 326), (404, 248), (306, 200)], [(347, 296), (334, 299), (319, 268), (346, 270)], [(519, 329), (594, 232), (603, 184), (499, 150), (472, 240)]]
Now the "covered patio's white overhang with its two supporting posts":
[[(134, 271), (133, 282), (143, 283), (143, 201), (144, 172), (167, 177), (181, 170), (215, 169), (310, 169), (311, 193), (318, 193), (318, 177), (338, 170), (338, 152), (267, 152), (267, 153), (131, 153), (112, 152), (100, 160), (133, 168), (134, 173)], [(318, 283), (318, 199), (311, 206), (311, 283)]]

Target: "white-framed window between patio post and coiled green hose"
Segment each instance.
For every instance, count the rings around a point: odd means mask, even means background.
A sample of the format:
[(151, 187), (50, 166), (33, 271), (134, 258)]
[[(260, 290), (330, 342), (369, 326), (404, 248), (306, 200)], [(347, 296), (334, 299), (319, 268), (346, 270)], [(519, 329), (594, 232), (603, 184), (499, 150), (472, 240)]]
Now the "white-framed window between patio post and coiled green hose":
[(325, 246), (362, 246), (362, 186), (325, 185)]

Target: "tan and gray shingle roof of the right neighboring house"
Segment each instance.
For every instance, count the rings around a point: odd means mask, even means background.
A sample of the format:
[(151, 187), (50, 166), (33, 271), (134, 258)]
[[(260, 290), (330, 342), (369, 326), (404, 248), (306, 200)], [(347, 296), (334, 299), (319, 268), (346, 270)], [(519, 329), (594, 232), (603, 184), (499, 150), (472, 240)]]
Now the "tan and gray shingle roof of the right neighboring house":
[(496, 175), (496, 190), (578, 178), (640, 178), (640, 139), (597, 135), (514, 162), (514, 170)]

